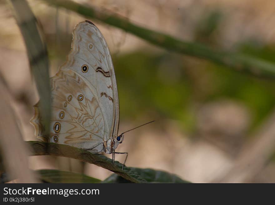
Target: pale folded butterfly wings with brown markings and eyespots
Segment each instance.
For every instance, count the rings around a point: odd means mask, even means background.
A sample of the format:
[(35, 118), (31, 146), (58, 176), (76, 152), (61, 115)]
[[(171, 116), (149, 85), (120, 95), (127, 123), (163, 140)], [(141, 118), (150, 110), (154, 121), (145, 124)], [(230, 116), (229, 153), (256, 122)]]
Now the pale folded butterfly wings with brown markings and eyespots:
[(118, 91), (108, 45), (91, 22), (79, 23), (67, 61), (51, 79), (52, 119), (43, 135), (39, 106), (31, 123), (44, 141), (103, 150), (103, 140), (117, 136)]

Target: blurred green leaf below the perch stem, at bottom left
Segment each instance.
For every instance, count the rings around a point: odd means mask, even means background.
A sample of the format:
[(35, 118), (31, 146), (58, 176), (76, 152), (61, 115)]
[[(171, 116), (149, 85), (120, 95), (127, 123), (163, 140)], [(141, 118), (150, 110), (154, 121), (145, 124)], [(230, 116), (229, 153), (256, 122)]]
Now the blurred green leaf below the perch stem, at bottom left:
[(84, 174), (60, 170), (37, 170), (42, 181), (48, 183), (99, 183), (96, 179)]

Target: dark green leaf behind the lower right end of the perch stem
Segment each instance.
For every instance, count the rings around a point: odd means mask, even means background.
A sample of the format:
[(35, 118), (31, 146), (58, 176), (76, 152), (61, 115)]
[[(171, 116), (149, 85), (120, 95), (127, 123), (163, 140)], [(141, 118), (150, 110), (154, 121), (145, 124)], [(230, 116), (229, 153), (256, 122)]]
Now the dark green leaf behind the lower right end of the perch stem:
[[(177, 175), (170, 174), (165, 171), (153, 170), (153, 169), (140, 169), (135, 167), (128, 167), (131, 171), (136, 172), (143, 179), (146, 179), (149, 183), (190, 183), (179, 178)], [(109, 176), (102, 181), (103, 183), (131, 183), (129, 180), (122, 178), (117, 174)]]

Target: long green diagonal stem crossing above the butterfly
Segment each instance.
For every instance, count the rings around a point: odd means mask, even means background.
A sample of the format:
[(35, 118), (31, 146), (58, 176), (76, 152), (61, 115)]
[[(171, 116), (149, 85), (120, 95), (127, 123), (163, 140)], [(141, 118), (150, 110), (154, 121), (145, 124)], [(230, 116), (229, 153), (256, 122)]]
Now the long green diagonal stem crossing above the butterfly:
[(206, 45), (192, 43), (174, 38), (154, 30), (137, 26), (126, 18), (110, 11), (99, 11), (91, 6), (84, 6), (71, 0), (42, 0), (56, 7), (74, 11), (87, 18), (97, 19), (111, 26), (118, 27), (126, 32), (136, 35), (148, 42), (165, 49), (198, 58), (204, 58), (213, 63), (225, 65), (238, 71), (248, 72), (253, 75), (274, 78), (275, 64), (252, 56), (230, 53), (212, 49)]

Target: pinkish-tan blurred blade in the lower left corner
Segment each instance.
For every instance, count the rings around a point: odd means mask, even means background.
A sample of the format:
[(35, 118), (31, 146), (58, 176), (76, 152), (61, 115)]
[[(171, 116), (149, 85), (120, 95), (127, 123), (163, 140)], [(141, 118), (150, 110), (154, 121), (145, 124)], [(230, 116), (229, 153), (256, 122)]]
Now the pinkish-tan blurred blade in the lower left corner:
[(11, 107), (11, 96), (0, 76), (0, 151), (9, 179), (19, 183), (37, 182), (28, 168), (28, 151)]

